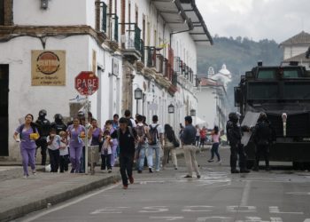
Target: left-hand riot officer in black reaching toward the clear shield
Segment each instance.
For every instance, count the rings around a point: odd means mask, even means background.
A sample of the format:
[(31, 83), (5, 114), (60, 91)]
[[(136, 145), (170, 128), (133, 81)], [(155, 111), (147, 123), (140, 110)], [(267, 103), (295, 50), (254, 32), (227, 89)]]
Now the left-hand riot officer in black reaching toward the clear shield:
[[(236, 113), (229, 114), (229, 121), (226, 124), (226, 131), (230, 145), (230, 170), (231, 173), (248, 173), (250, 170), (246, 169), (246, 155), (244, 153), (244, 146), (241, 144), (242, 131), (248, 131), (248, 127), (240, 127), (239, 116)], [(236, 161), (239, 156), (239, 170), (236, 170)]]

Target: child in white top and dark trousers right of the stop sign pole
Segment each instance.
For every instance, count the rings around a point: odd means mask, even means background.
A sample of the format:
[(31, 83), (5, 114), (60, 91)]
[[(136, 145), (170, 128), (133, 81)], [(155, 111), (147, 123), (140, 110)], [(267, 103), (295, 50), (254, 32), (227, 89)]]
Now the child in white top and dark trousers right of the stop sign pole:
[(110, 131), (104, 131), (104, 145), (101, 148), (101, 170), (105, 170), (105, 166), (108, 169), (108, 172), (112, 172), (111, 166), (111, 155), (112, 155), (112, 138), (110, 137)]

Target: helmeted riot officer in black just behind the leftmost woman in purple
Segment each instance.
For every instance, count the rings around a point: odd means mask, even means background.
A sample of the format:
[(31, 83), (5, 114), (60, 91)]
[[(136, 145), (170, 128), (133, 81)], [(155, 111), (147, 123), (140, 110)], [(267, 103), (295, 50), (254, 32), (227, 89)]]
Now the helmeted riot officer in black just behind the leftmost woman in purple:
[(41, 147), (42, 162), (44, 166), (46, 163), (46, 150), (47, 142), (46, 138), (50, 135), (50, 121), (46, 119), (47, 112), (45, 109), (40, 110), (39, 117), (36, 120), (36, 125), (40, 133), (40, 138), (35, 141), (37, 148)]

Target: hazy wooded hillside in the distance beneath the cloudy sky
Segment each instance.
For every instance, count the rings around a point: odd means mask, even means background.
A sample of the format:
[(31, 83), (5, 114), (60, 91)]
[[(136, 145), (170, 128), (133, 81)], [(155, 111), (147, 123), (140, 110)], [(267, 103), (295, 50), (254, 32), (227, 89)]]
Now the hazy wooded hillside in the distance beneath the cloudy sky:
[(205, 76), (209, 67), (215, 72), (221, 69), (223, 63), (234, 74), (229, 84), (228, 94), (231, 107), (233, 106), (233, 88), (240, 80), (240, 75), (251, 70), (259, 60), (264, 65), (280, 65), (283, 50), (274, 40), (260, 40), (255, 42), (249, 38), (213, 37), (213, 46), (198, 49), (198, 76)]

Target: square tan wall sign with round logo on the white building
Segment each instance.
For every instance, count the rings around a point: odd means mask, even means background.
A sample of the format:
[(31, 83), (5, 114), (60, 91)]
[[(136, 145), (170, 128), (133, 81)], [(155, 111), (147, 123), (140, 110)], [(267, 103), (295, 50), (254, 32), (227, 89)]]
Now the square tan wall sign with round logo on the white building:
[(66, 85), (66, 51), (31, 51), (31, 85)]

